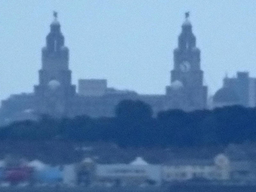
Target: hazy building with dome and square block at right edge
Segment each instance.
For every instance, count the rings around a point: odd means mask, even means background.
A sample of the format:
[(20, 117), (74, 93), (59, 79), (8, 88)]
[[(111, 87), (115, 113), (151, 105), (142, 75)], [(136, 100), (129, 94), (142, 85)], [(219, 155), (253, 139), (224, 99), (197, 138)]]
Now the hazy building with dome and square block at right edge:
[(256, 105), (256, 78), (250, 78), (248, 72), (237, 72), (236, 77), (223, 79), (222, 88), (213, 96), (213, 107)]

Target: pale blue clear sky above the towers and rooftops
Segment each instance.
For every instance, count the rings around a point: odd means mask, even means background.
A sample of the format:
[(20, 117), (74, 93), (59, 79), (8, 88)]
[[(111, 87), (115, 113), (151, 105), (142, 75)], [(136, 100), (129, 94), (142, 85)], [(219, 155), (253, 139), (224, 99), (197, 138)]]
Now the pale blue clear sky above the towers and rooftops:
[(0, 0), (0, 100), (33, 92), (53, 11), (70, 50), (72, 83), (164, 94), (190, 11), (209, 95), (225, 74), (256, 77), (255, 0)]

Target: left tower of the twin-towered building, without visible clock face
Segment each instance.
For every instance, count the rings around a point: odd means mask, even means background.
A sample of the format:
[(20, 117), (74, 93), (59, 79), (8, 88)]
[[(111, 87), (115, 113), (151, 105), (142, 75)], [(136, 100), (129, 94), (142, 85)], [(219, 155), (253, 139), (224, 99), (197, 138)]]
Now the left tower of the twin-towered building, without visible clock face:
[(71, 84), (69, 51), (64, 46), (64, 36), (60, 31), (57, 12), (46, 36), (46, 46), (42, 48), (42, 68), (39, 70), (39, 85), (34, 87), (38, 99), (38, 111), (52, 116), (68, 116), (70, 102), (76, 94), (76, 86)]

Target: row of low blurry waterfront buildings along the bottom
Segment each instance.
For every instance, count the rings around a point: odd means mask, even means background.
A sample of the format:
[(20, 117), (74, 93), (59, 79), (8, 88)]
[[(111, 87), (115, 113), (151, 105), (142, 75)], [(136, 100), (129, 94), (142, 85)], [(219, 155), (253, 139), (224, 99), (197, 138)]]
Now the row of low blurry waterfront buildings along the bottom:
[[(168, 184), (255, 184), (256, 169), (253, 160), (231, 160), (226, 154), (212, 159), (172, 159), (151, 164), (137, 157), (130, 163), (98, 163), (85, 158), (72, 164), (50, 165), (39, 160), (24, 161), (20, 158), (0, 160), (0, 186), (8, 170), (33, 170), (31, 178), (25, 174), (13, 174), (17, 183), (69, 186), (161, 186)], [(17, 172), (16, 172), (17, 173)], [(8, 181), (8, 180), (7, 180)], [(10, 182), (10, 181), (9, 181)], [(8, 182), (7, 182), (8, 183)]]

